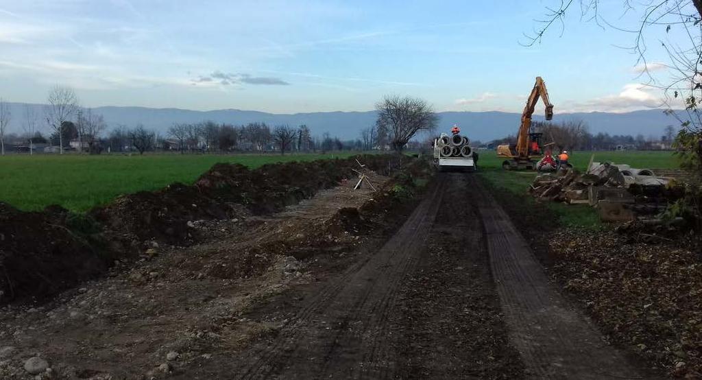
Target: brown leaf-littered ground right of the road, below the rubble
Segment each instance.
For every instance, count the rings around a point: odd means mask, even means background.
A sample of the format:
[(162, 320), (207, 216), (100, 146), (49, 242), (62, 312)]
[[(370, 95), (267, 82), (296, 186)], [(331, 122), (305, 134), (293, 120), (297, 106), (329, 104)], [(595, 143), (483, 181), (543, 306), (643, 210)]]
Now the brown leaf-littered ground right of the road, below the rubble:
[(553, 270), (614, 341), (673, 376), (702, 376), (702, 259), (679, 240), (567, 230)]

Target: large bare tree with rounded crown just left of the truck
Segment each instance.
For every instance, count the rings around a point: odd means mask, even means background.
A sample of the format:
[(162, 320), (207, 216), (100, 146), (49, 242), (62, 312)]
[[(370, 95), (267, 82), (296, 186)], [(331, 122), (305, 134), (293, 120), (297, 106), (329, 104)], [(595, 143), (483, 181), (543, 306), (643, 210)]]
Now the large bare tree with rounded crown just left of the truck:
[(392, 149), (402, 152), (418, 131), (432, 131), (438, 117), (425, 100), (409, 96), (385, 96), (376, 104), (379, 130), (387, 131)]

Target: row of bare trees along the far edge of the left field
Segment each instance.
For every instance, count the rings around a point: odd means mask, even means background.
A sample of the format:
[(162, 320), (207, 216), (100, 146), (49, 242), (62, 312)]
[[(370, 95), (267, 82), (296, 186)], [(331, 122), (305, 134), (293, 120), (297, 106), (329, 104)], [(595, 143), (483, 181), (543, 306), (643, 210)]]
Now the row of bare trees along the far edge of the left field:
[[(77, 141), (79, 152), (91, 154), (103, 149), (114, 152), (138, 150), (178, 150), (179, 152), (229, 152), (232, 150), (269, 152), (277, 150), (310, 152), (312, 150), (373, 150), (388, 149), (402, 151), (418, 131), (435, 129), (437, 116), (424, 100), (411, 97), (386, 96), (376, 104), (378, 119), (375, 126), (362, 131), (357, 140), (341, 141), (325, 133), (321, 138), (313, 137), (305, 125), (268, 126), (265, 123), (249, 123), (244, 126), (217, 124), (205, 121), (194, 124), (176, 123), (168, 129), (166, 136), (145, 128), (142, 124), (129, 129), (118, 126), (107, 138), (102, 134), (107, 124), (102, 115), (91, 109), (80, 107), (75, 92), (63, 86), (55, 86), (48, 93), (43, 115), (34, 114), (34, 108), (25, 106), (24, 138), (29, 143), (29, 152), (37, 143), (46, 143), (40, 126), (45, 124), (51, 132), (48, 141), (58, 145), (62, 154), (69, 141)], [(40, 121), (41, 118), (41, 121)], [(11, 120), (8, 104), (0, 98), (0, 151), (5, 152), (7, 126)]]

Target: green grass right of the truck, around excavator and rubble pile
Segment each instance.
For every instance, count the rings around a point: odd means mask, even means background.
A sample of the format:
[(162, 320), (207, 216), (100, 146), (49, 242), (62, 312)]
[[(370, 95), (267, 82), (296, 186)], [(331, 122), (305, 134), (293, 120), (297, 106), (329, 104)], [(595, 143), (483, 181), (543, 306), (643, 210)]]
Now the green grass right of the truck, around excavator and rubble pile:
[[(639, 169), (675, 169), (677, 159), (671, 152), (574, 152), (571, 154), (571, 164), (584, 171), (590, 156), (595, 155), (594, 162), (614, 162), (616, 164), (629, 164)], [(497, 157), (494, 151), (480, 152), (479, 176), (489, 181), (494, 188), (509, 192), (515, 197), (524, 199), (524, 202), (536, 202), (527, 193), (529, 183), (534, 181), (536, 173), (533, 171), (507, 171), (502, 169), (503, 159)], [(599, 228), (600, 218), (595, 209), (585, 204), (562, 204), (550, 202), (545, 204), (552, 214), (558, 218), (554, 223), (585, 228)]]

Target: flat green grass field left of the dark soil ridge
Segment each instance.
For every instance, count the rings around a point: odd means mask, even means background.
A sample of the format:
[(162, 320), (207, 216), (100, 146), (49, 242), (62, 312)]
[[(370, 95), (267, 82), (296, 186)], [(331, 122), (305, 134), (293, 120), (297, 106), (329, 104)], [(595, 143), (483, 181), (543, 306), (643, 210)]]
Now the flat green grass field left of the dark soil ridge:
[(0, 201), (22, 210), (59, 204), (86, 211), (118, 195), (192, 183), (217, 162), (251, 168), (284, 161), (348, 157), (328, 155), (12, 155), (0, 157)]

